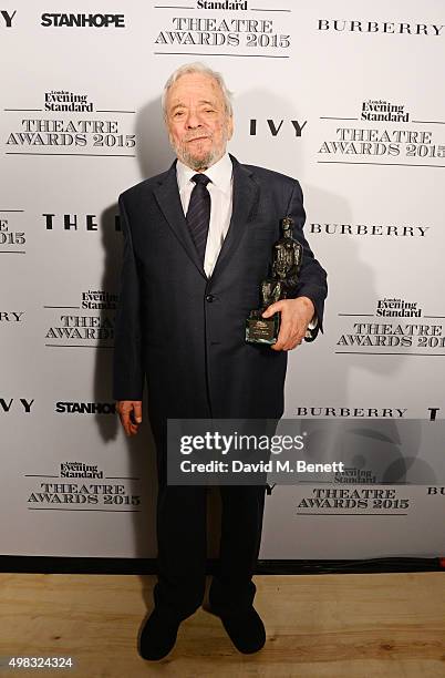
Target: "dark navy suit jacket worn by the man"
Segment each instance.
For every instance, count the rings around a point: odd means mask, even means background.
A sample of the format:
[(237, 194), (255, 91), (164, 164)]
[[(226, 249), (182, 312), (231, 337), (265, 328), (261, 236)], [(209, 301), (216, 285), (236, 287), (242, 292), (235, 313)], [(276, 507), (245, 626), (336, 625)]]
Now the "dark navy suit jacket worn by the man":
[(232, 216), (210, 278), (180, 203), (176, 161), (120, 196), (124, 256), (114, 350), (113, 397), (142, 400), (153, 424), (167, 418), (280, 418), (287, 351), (245, 341), (259, 307), (279, 220), (294, 222), (303, 246), (294, 296), (309, 297), (322, 328), (327, 274), (303, 235), (299, 183), (234, 156)]

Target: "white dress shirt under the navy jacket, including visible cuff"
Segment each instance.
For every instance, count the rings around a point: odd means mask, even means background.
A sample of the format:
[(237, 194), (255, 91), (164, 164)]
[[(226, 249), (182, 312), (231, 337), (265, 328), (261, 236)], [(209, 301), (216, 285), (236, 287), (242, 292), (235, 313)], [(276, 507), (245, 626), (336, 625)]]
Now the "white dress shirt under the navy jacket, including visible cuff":
[[(180, 162), (176, 163), (176, 177), (178, 182), (180, 202), (184, 215), (187, 214), (192, 191), (196, 184), (192, 181), (196, 171)], [(224, 238), (230, 225), (232, 209), (232, 164), (229, 154), (226, 153), (205, 173), (210, 179), (207, 191), (210, 194), (210, 222), (208, 226), (206, 254), (204, 256), (204, 270), (207, 278), (211, 276)], [(309, 323), (309, 329), (317, 326), (317, 314)]]

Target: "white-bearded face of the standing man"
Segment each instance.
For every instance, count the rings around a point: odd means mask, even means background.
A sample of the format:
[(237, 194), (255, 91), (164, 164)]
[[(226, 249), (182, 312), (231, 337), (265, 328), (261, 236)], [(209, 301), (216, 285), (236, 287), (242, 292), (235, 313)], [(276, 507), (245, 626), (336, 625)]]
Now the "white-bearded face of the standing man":
[(209, 75), (182, 75), (168, 92), (166, 114), (169, 142), (185, 165), (205, 171), (226, 153), (232, 119), (226, 113), (218, 83)]

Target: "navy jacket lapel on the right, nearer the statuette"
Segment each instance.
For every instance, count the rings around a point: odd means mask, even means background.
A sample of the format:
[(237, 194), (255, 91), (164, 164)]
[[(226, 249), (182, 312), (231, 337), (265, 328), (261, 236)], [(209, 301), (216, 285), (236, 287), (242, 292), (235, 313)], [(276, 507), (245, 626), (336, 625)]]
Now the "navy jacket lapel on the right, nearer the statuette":
[(239, 240), (246, 232), (247, 224), (255, 214), (259, 198), (259, 185), (253, 179), (252, 173), (232, 155), (230, 155), (230, 160), (234, 165), (231, 218), (211, 278), (220, 275), (236, 251)]

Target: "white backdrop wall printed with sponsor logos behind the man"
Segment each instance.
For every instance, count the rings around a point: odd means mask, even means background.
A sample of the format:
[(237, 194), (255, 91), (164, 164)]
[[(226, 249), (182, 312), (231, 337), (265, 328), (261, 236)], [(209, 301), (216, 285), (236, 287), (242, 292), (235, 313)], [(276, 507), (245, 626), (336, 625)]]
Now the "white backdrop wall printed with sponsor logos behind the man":
[(443, 3), (3, 7), (1, 552), (156, 554), (148, 427), (125, 439), (111, 398), (116, 199), (170, 164), (162, 88), (199, 60), (234, 92), (230, 152), (300, 181), (329, 273), (286, 415), (350, 475), (271, 487), (260, 557), (444, 555), (445, 479), (423, 459), (445, 411)]

